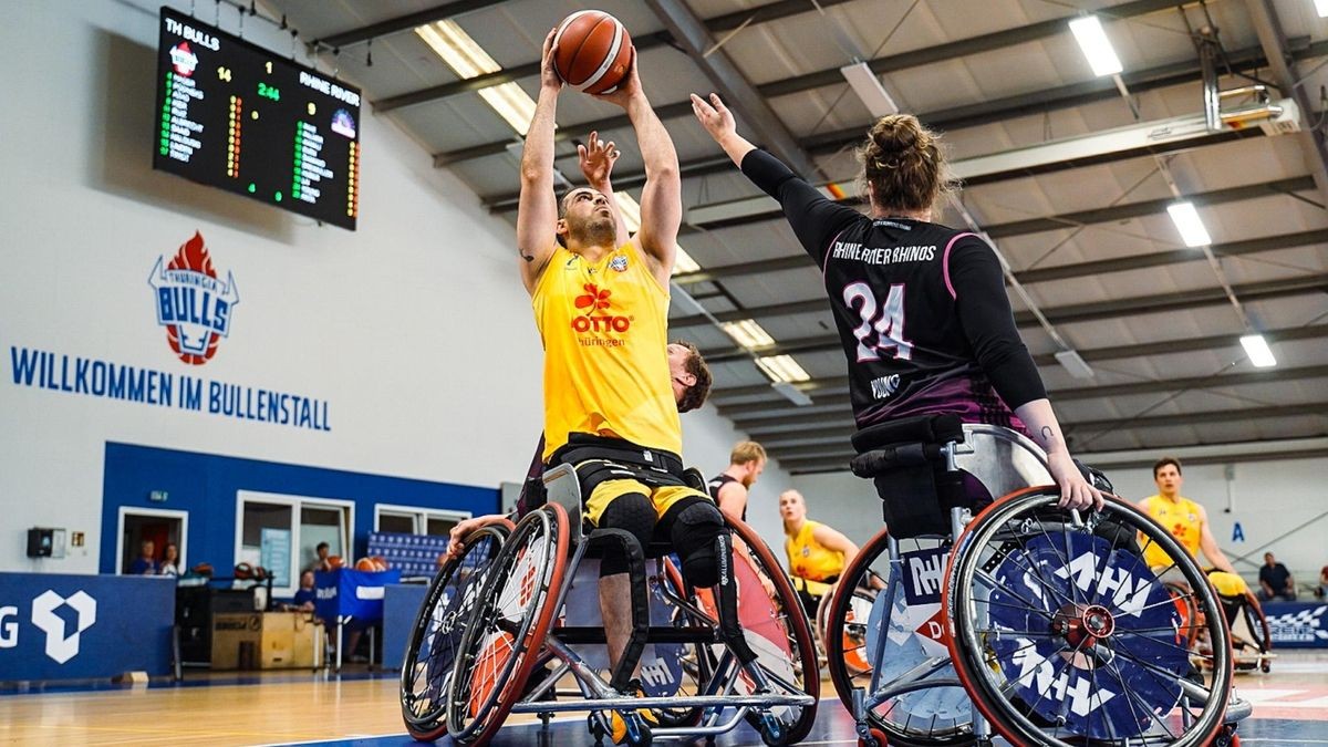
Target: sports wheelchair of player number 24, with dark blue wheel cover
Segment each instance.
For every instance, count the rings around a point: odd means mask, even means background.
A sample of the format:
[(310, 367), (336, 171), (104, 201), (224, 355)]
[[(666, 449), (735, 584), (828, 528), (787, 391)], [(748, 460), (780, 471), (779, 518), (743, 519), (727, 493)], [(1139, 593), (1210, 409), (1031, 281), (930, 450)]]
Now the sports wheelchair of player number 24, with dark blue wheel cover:
[[(859, 746), (1239, 743), (1230, 646), (1199, 655), (1207, 677), (1187, 646), (1228, 641), (1226, 617), (1166, 529), (1114, 496), (1058, 508), (1045, 453), (1005, 428), (924, 416), (854, 445), (886, 529), (841, 576), (826, 646)], [(1139, 542), (1181, 558), (1202, 615), (1182, 619)]]

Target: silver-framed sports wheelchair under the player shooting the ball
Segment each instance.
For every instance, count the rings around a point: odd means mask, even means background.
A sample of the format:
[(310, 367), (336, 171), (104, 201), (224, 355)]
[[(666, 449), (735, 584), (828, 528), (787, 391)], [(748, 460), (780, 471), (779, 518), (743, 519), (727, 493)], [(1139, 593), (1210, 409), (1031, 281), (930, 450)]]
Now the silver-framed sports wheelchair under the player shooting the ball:
[[(788, 577), (750, 528), (728, 522), (720, 584), (696, 589), (660, 532), (640, 548), (624, 532), (583, 524), (571, 465), (542, 481), (547, 502), (510, 533), (486, 528), (467, 538), (449, 564), (470, 569), (465, 578), (449, 568), (436, 577), (402, 670), (412, 736), (486, 744), (509, 714), (535, 714), (547, 728), (554, 714), (588, 711), (596, 744), (615, 720), (633, 746), (713, 740), (744, 720), (766, 744), (806, 738), (819, 700), (815, 647)], [(688, 482), (704, 485), (695, 471)], [(627, 553), (633, 581), (632, 633), (612, 670), (595, 568), (607, 544)]]

